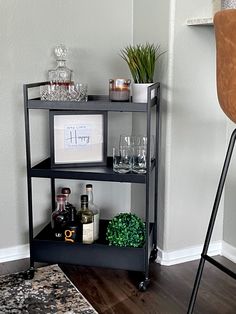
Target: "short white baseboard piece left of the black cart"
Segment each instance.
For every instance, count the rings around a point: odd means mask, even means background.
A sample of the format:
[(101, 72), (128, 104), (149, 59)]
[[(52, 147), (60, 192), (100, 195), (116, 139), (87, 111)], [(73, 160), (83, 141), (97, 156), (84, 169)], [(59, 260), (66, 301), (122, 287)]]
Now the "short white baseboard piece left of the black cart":
[(0, 249), (0, 263), (16, 261), (28, 257), (29, 257), (28, 244)]

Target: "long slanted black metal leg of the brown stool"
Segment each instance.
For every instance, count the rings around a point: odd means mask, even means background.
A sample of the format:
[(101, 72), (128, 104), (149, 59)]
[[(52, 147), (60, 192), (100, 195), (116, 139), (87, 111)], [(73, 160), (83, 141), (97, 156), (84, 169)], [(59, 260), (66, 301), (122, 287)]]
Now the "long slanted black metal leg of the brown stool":
[(205, 255), (207, 255), (208, 247), (210, 244), (211, 235), (213, 232), (213, 228), (214, 228), (214, 224), (215, 224), (215, 220), (216, 220), (216, 216), (217, 216), (217, 212), (218, 212), (218, 208), (219, 208), (219, 204), (220, 204), (220, 199), (221, 199), (221, 195), (222, 195), (224, 184), (225, 184), (226, 175), (227, 175), (227, 172), (229, 169), (229, 164), (230, 164), (231, 156), (233, 153), (235, 140), (236, 140), (236, 129), (233, 131), (233, 133), (231, 135), (228, 150), (227, 150), (225, 161), (224, 161), (224, 166), (223, 166), (223, 169), (221, 172), (221, 177), (220, 177), (218, 189), (216, 192), (215, 202), (213, 205), (213, 210), (211, 213), (210, 222), (209, 222), (208, 229), (207, 229), (207, 234), (206, 234), (206, 238), (205, 238), (205, 242), (204, 242), (204, 246), (203, 246), (203, 251), (201, 254), (201, 259), (199, 262), (198, 271), (197, 271), (197, 275), (196, 275), (195, 282), (193, 285), (192, 295), (191, 295), (190, 302), (189, 302), (189, 307), (188, 307), (188, 312), (187, 312), (188, 314), (193, 313), (195, 301), (197, 298), (198, 288), (200, 285), (200, 281), (202, 278), (202, 272), (203, 272), (203, 268), (205, 265), (205, 258), (204, 257), (205, 257)]

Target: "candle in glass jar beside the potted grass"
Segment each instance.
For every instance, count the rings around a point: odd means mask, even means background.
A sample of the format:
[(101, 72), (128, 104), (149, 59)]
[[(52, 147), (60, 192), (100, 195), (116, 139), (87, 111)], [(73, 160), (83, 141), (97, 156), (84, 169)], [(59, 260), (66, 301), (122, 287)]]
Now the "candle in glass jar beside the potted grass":
[(109, 81), (109, 98), (111, 101), (129, 101), (130, 97), (130, 80), (127, 79), (110, 79)]

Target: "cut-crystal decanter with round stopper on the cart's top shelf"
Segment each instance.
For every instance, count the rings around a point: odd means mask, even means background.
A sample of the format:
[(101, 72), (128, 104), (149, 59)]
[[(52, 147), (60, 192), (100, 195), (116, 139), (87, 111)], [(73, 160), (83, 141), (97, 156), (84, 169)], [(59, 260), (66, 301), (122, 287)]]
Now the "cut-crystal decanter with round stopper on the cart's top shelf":
[(65, 45), (58, 45), (54, 50), (57, 67), (48, 71), (48, 78), (51, 84), (69, 85), (72, 78), (72, 70), (66, 66), (67, 48)]

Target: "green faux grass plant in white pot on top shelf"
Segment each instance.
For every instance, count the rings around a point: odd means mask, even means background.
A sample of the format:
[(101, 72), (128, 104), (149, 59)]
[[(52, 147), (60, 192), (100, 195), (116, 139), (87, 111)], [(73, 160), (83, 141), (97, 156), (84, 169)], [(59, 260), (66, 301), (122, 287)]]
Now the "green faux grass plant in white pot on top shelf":
[(153, 83), (156, 61), (162, 55), (160, 46), (149, 43), (129, 45), (120, 55), (133, 77), (133, 102), (147, 102), (147, 88)]

